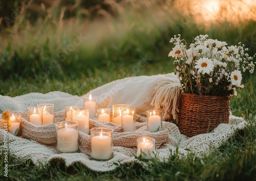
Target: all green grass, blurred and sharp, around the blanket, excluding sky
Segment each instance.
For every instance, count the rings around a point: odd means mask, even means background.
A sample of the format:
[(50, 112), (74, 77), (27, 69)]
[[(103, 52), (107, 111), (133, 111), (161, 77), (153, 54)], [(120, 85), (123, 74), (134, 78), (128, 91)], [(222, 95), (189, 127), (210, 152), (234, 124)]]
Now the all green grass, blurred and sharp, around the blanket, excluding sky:
[[(168, 41), (178, 33), (188, 43), (196, 35), (207, 33), (210, 38), (227, 41), (229, 45), (245, 43), (250, 55), (256, 52), (256, 22), (253, 20), (235, 27), (229, 22), (220, 22), (206, 28), (172, 8), (157, 7), (155, 11), (140, 8), (142, 12), (124, 10), (120, 13), (118, 10), (118, 16), (104, 21), (84, 18), (87, 16), (79, 7), (74, 16), (61, 17), (58, 5), (32, 20), (28, 19), (28, 12), (20, 15), (14, 26), (1, 29), (0, 95), (14, 97), (60, 90), (81, 96), (116, 79), (170, 73), (173, 59), (167, 57), (172, 49)], [(74, 46), (80, 33), (86, 38)], [(74, 50), (67, 52), (72, 44)], [(255, 73), (243, 74), (245, 88), (230, 100), (232, 114), (245, 118), (249, 124), (202, 159), (193, 153), (186, 159), (172, 155), (164, 163), (153, 160), (147, 168), (130, 163), (115, 171), (100, 173), (81, 164), (67, 168), (61, 162), (39, 168), (30, 160), (10, 153), (8, 179), (256, 180), (254, 79)], [(0, 161), (0, 180), (3, 180), (3, 154)]]

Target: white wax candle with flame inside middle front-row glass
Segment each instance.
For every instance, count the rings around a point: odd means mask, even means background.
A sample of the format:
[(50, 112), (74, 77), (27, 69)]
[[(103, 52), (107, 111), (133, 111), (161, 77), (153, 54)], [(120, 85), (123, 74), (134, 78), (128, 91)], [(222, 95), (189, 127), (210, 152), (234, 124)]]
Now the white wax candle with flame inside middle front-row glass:
[(91, 157), (96, 160), (109, 160), (112, 157), (111, 137), (107, 135), (94, 136), (91, 139)]

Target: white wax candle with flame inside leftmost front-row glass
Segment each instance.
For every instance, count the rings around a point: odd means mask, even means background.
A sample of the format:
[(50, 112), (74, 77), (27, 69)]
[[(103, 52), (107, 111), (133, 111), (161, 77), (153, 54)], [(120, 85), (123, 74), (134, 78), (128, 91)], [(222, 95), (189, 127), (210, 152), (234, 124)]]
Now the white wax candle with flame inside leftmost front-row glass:
[(69, 128), (67, 123), (65, 128), (57, 131), (57, 147), (61, 152), (74, 152), (78, 150), (78, 131)]

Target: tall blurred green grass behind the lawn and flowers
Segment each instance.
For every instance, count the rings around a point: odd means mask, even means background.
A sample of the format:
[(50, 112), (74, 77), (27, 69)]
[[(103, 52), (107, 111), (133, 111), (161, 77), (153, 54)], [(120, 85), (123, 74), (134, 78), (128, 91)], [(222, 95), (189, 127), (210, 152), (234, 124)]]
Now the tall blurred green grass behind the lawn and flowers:
[[(29, 6), (15, 18), (13, 26), (3, 30), (0, 80), (19, 76), (62, 79), (64, 75), (76, 79), (80, 72), (88, 76), (95, 67), (126, 66), (136, 63), (144, 55), (151, 57), (151, 62), (172, 61), (167, 57), (171, 47), (169, 39), (178, 33), (188, 43), (193, 37), (208, 33), (209, 38), (228, 44), (242, 41), (250, 49), (250, 55), (256, 50), (255, 21), (241, 23), (239, 27), (222, 22), (206, 28), (197, 25), (192, 17), (168, 7), (168, 11), (161, 8), (145, 12), (124, 9), (116, 18), (92, 22), (79, 15), (65, 18), (61, 14), (68, 9), (57, 5), (33, 17), (36, 18), (33, 22), (28, 19), (32, 13)], [(78, 13), (79, 6), (75, 7)]]

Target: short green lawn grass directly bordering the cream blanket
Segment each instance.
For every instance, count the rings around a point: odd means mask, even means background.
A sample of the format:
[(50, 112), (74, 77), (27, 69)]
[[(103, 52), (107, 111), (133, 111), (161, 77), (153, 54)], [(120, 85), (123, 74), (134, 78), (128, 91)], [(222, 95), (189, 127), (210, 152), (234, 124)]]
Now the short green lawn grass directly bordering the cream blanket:
[[(31, 86), (33, 81), (22, 80), (17, 83), (11, 81), (5, 87), (5, 95), (16, 96), (29, 92), (46, 93), (52, 90), (61, 90), (73, 95), (83, 95), (91, 88), (106, 82), (127, 76), (153, 75), (168, 73), (170, 62), (147, 64), (141, 71), (133, 72), (131, 65), (126, 69), (106, 72), (95, 70), (92, 77), (81, 77), (76, 81), (66, 78), (63, 81), (49, 79), (37, 86)], [(46, 166), (34, 166), (31, 161), (15, 158), (9, 154), (9, 180), (255, 180), (256, 178), (256, 126), (254, 125), (256, 95), (253, 90), (254, 75), (248, 76), (244, 81), (245, 88), (238, 97), (230, 101), (231, 111), (236, 116), (244, 117), (250, 124), (244, 130), (237, 131), (232, 138), (223, 143), (220, 148), (213, 150), (202, 159), (192, 153), (187, 159), (179, 159), (172, 155), (168, 161), (161, 163), (153, 160), (146, 168), (139, 164), (130, 163), (119, 166), (115, 171), (100, 173), (89, 170), (77, 163), (69, 168), (61, 162), (51, 162)], [(86, 83), (85, 83), (86, 82)], [(4, 179), (3, 156), (1, 157), (0, 178)]]

